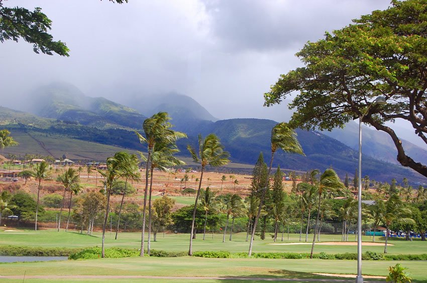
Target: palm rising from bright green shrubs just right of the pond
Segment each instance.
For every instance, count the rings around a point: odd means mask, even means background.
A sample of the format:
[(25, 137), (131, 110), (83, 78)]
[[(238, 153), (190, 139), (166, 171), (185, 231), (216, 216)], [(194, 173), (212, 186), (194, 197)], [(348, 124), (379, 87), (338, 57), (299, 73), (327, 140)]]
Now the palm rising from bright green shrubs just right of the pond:
[(104, 178), (104, 191), (106, 194), (106, 207), (104, 221), (102, 224), (102, 246), (101, 246), (101, 256), (105, 257), (105, 228), (110, 214), (110, 195), (111, 189), (114, 182), (126, 176), (126, 173), (130, 171), (132, 164), (132, 157), (127, 152), (117, 152), (114, 157), (110, 157), (106, 160), (106, 170), (98, 170), (99, 174)]

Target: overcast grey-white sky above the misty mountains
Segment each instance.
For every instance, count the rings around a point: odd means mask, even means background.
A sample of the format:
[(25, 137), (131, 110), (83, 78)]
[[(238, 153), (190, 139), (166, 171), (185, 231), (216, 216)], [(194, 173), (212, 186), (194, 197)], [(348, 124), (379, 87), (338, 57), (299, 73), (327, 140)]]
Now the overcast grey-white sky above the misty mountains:
[(0, 44), (3, 106), (18, 108), (17, 94), (60, 80), (122, 103), (174, 91), (220, 119), (275, 120), (286, 117), (281, 113), (287, 106), (263, 107), (263, 93), (280, 74), (301, 65), (294, 54), (304, 43), (390, 5), (389, 0), (3, 3), (42, 8), (52, 20), (54, 39), (71, 50), (67, 58), (35, 54), (23, 40)]

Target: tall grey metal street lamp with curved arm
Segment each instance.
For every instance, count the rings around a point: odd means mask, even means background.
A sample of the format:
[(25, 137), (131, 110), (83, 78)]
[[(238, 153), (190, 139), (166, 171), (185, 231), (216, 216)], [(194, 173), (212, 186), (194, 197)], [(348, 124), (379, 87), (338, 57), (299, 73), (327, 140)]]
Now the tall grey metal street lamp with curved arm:
[(387, 101), (384, 96), (378, 96), (369, 104), (362, 116), (359, 116), (359, 190), (357, 192), (357, 276), (356, 283), (363, 283), (362, 277), (362, 120), (372, 105), (384, 105)]

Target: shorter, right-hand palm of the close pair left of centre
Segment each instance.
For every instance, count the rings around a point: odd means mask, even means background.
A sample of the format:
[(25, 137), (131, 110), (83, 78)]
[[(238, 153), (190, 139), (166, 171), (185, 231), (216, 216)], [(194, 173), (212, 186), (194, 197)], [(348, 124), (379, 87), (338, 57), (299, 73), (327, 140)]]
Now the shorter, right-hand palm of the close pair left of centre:
[[(148, 197), (148, 243), (147, 253), (150, 255), (151, 251), (151, 194), (153, 188), (153, 175), (154, 169), (157, 168), (162, 172), (169, 172), (169, 168), (179, 165), (185, 165), (185, 162), (179, 160), (174, 156), (179, 150), (175, 143), (162, 143), (157, 142), (151, 154), (151, 168), (150, 168), (150, 192)], [(186, 174), (185, 174), (186, 175)], [(187, 179), (188, 179), (188, 175)]]

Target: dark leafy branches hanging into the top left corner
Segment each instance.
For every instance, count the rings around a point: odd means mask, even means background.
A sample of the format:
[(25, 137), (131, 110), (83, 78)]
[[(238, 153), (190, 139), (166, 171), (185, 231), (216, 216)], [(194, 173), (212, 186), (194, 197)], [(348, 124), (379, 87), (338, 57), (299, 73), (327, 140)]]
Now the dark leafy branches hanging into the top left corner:
[[(53, 41), (48, 33), (52, 21), (42, 13), (41, 8), (35, 8), (33, 12), (21, 7), (4, 7), (0, 0), (0, 42), (14, 40), (18, 42), (23, 38), (33, 44), (33, 51), (37, 54), (52, 55), (53, 52), (61, 56), (69, 56), (70, 51), (64, 42)], [(110, 0), (122, 4), (128, 0)]]

